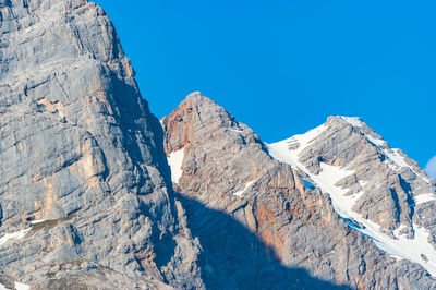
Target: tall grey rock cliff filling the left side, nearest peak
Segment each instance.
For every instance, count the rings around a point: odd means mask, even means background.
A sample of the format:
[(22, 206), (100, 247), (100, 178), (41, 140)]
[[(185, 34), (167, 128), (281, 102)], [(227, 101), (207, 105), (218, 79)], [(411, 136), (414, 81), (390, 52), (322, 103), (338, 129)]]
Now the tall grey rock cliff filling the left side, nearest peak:
[(4, 275), (45, 288), (110, 269), (126, 288), (141, 277), (142, 288), (202, 287), (159, 121), (104, 11), (85, 0), (0, 1), (0, 34)]

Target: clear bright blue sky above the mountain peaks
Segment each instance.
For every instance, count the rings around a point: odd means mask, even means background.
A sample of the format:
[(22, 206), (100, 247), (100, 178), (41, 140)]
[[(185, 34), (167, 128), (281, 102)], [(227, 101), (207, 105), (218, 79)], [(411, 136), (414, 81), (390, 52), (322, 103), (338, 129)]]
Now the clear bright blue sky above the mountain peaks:
[(436, 155), (436, 1), (97, 0), (152, 111), (201, 90), (265, 142), (359, 116)]

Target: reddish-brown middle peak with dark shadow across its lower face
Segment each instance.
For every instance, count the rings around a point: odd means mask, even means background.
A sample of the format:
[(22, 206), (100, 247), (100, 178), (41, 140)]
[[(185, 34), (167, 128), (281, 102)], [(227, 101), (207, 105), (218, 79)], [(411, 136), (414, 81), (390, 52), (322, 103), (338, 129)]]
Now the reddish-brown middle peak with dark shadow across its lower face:
[[(436, 286), (424, 268), (392, 258), (349, 227), (328, 194), (308, 185), (311, 180), (300, 168), (272, 159), (250, 128), (199, 93), (187, 96), (161, 124), (171, 169), (181, 170), (173, 186), (182, 196), (187, 226), (202, 244), (208, 288), (289, 289), (311, 282), (318, 288), (359, 289)], [(338, 138), (336, 132), (326, 134)], [(317, 162), (328, 159), (308, 150), (301, 159), (316, 158), (306, 164), (313, 165), (311, 170), (322, 170)], [(183, 159), (171, 161), (180, 152)], [(331, 164), (341, 161), (338, 148), (330, 155)], [(375, 155), (370, 150), (362, 164), (376, 159)], [(400, 179), (391, 181), (400, 185), (396, 181), (401, 183)], [(353, 180), (347, 182), (351, 190)], [(408, 197), (400, 201), (408, 203)], [(411, 213), (403, 207), (392, 216), (405, 222)], [(307, 275), (299, 276), (299, 270)]]

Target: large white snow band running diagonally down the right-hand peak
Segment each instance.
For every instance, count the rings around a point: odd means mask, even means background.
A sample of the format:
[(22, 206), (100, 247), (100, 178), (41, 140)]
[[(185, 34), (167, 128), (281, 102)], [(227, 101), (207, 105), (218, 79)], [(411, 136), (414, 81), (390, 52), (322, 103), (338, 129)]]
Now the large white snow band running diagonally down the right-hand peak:
[[(358, 120), (353, 120), (353, 122), (358, 122)], [(363, 192), (346, 196), (344, 194), (348, 192), (347, 189), (341, 189), (335, 185), (344, 177), (353, 174), (354, 171), (342, 169), (337, 166), (320, 164), (323, 171), (319, 174), (312, 174), (302, 164), (299, 162), (300, 153), (326, 128), (326, 125), (322, 125), (305, 134), (295, 135), (278, 143), (267, 144), (269, 154), (272, 158), (292, 167), (300, 168), (310, 176), (323, 193), (329, 194), (334, 208), (338, 215), (344, 219), (353, 221), (353, 225), (360, 225), (351, 227), (370, 237), (382, 251), (387, 252), (396, 258), (404, 258), (417, 263), (436, 277), (436, 251), (428, 242), (429, 232), (426, 229), (413, 227), (415, 237), (411, 240), (403, 235), (399, 235), (399, 229), (395, 231), (397, 239), (390, 238), (380, 231), (379, 225), (368, 219), (364, 219), (360, 214), (352, 209), (354, 202), (362, 196)], [(290, 150), (289, 145), (295, 143), (299, 143), (300, 147)], [(405, 226), (401, 225), (400, 229), (403, 227)]]

